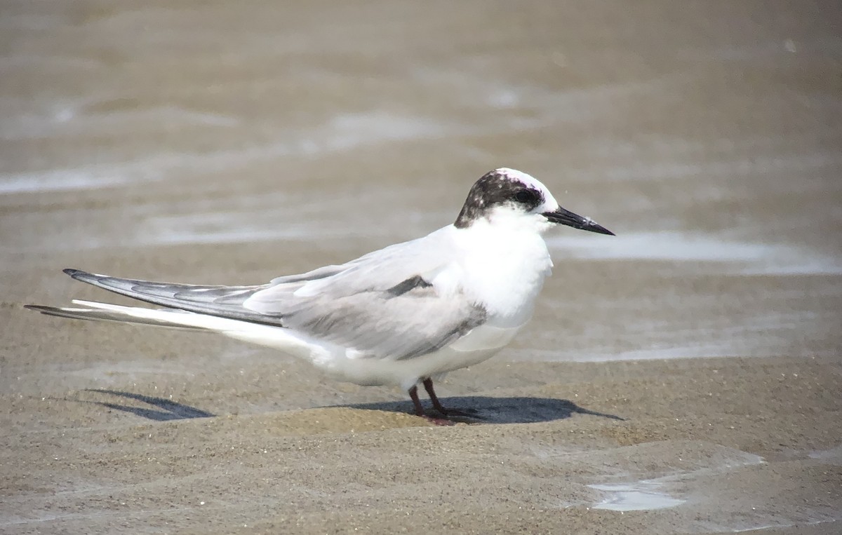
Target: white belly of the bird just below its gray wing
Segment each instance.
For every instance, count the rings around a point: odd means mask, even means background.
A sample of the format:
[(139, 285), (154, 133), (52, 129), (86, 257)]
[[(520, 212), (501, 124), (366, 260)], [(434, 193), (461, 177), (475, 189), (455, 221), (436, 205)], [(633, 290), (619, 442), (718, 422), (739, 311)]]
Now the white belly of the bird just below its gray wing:
[(315, 363), (336, 379), (365, 386), (388, 384), (408, 389), (418, 379), (466, 368), (493, 357), (519, 330), (520, 326), (479, 326), (437, 352), (401, 360), (339, 356)]

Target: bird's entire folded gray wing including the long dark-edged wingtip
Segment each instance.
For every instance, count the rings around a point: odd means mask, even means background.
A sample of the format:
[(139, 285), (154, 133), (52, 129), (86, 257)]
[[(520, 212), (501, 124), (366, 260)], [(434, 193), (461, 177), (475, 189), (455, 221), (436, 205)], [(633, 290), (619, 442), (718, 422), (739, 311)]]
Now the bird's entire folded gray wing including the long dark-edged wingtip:
[[(445, 227), (446, 229), (446, 227)], [(444, 230), (444, 229), (443, 229)], [(156, 305), (295, 329), (370, 358), (413, 358), (486, 320), (482, 305), (436, 275), (453, 269), (442, 230), (354, 261), (258, 286), (199, 286), (65, 270), (73, 278)]]

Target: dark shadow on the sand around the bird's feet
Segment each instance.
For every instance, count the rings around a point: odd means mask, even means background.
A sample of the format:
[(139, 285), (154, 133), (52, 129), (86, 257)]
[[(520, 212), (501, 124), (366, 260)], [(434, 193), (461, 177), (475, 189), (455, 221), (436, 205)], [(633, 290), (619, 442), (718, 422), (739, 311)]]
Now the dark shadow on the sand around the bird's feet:
[[(448, 420), (465, 423), (536, 423), (563, 420), (574, 414), (600, 416), (602, 418), (609, 418), (610, 420), (626, 420), (621, 416), (585, 409), (570, 400), (557, 400), (553, 398), (495, 398), (484, 395), (468, 395), (441, 398), (441, 404), (445, 405), (447, 409), (460, 413), (458, 416), (447, 416)], [(412, 413), (412, 405), (402, 401), (381, 401), (337, 406), (370, 411), (409, 411)], [(429, 406), (425, 405), (424, 409), (431, 416), (439, 414)]]

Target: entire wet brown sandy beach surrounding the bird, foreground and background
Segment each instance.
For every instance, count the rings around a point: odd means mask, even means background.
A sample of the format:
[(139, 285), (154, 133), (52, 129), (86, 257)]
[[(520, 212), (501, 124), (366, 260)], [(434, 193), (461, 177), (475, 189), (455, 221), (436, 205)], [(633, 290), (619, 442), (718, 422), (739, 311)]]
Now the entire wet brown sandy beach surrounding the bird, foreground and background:
[[(0, 532), (839, 532), (842, 14), (628, 5), (7, 3)], [(504, 165), (618, 236), (549, 236), (456, 426), (22, 308), (344, 262)]]

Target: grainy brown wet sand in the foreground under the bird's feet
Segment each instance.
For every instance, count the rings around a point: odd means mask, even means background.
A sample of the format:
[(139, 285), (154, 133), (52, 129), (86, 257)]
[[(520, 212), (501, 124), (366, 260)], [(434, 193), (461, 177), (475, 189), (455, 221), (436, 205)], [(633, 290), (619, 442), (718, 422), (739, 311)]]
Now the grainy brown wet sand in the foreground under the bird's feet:
[[(266, 355), (221, 358), (184, 333), (208, 355), (197, 362), (109, 327), (56, 325), (33, 345), (61, 347), (62, 362), (5, 390), (4, 532), (838, 525), (838, 359), (495, 360), (442, 384), (447, 405), (477, 418), (437, 427), (388, 389)], [(171, 353), (84, 363), (85, 347), (120, 341)], [(57, 388), (23, 386), (39, 383)]]

